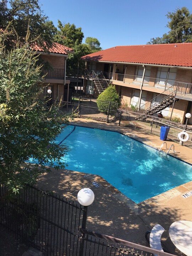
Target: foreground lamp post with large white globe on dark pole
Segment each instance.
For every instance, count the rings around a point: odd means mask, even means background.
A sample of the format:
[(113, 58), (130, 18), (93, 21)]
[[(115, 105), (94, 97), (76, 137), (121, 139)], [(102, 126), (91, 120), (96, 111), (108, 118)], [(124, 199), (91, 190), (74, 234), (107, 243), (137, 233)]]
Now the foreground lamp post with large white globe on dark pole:
[[(82, 229), (86, 229), (86, 222), (87, 222), (87, 208), (95, 199), (94, 192), (90, 188), (82, 188), (77, 195), (78, 202), (84, 206), (83, 218), (82, 218)], [(80, 250), (79, 256), (83, 255), (84, 249), (84, 237), (85, 234), (81, 233), (81, 243), (80, 243)]]

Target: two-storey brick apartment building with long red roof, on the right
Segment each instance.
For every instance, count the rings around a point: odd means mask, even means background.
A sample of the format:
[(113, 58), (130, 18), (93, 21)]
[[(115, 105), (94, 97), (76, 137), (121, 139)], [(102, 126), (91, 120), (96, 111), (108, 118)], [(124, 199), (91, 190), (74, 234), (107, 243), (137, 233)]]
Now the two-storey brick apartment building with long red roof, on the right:
[[(192, 113), (192, 43), (116, 46), (83, 56), (84, 90), (97, 97), (114, 84), (121, 104), (147, 114)], [(192, 118), (189, 120), (192, 124)]]

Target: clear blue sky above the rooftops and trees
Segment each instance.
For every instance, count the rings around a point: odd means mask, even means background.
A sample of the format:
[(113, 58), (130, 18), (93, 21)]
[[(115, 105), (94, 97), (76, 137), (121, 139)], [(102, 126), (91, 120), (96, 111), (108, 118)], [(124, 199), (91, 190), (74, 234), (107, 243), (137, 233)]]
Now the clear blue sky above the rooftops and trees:
[[(39, 0), (44, 14), (57, 26), (74, 23), (86, 37), (96, 37), (103, 49), (120, 45), (146, 44), (169, 31), (167, 12), (192, 0)], [(83, 41), (83, 42), (84, 42)]]

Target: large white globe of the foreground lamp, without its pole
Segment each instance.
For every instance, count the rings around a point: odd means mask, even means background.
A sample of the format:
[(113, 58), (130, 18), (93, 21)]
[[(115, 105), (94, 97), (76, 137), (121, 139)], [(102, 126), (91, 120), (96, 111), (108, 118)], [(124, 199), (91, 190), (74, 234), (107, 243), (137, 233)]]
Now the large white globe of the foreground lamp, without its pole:
[(78, 202), (82, 206), (89, 206), (95, 199), (94, 192), (90, 188), (82, 188), (77, 195)]

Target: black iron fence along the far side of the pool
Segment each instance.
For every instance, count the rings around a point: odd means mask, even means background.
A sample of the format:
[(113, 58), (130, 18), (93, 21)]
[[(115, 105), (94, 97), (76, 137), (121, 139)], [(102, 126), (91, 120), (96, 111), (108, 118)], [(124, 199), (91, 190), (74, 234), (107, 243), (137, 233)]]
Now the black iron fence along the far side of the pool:
[[(63, 111), (76, 113), (76, 117), (89, 118), (119, 126), (130, 127), (146, 133), (160, 136), (161, 126), (170, 127), (167, 139), (180, 143), (178, 133), (185, 130), (185, 125), (143, 113), (117, 109), (114, 102), (103, 102), (105, 108), (97, 106), (97, 100), (89, 97), (71, 97), (70, 102), (63, 102)], [(184, 146), (192, 147), (192, 129), (187, 127), (189, 139)]]

